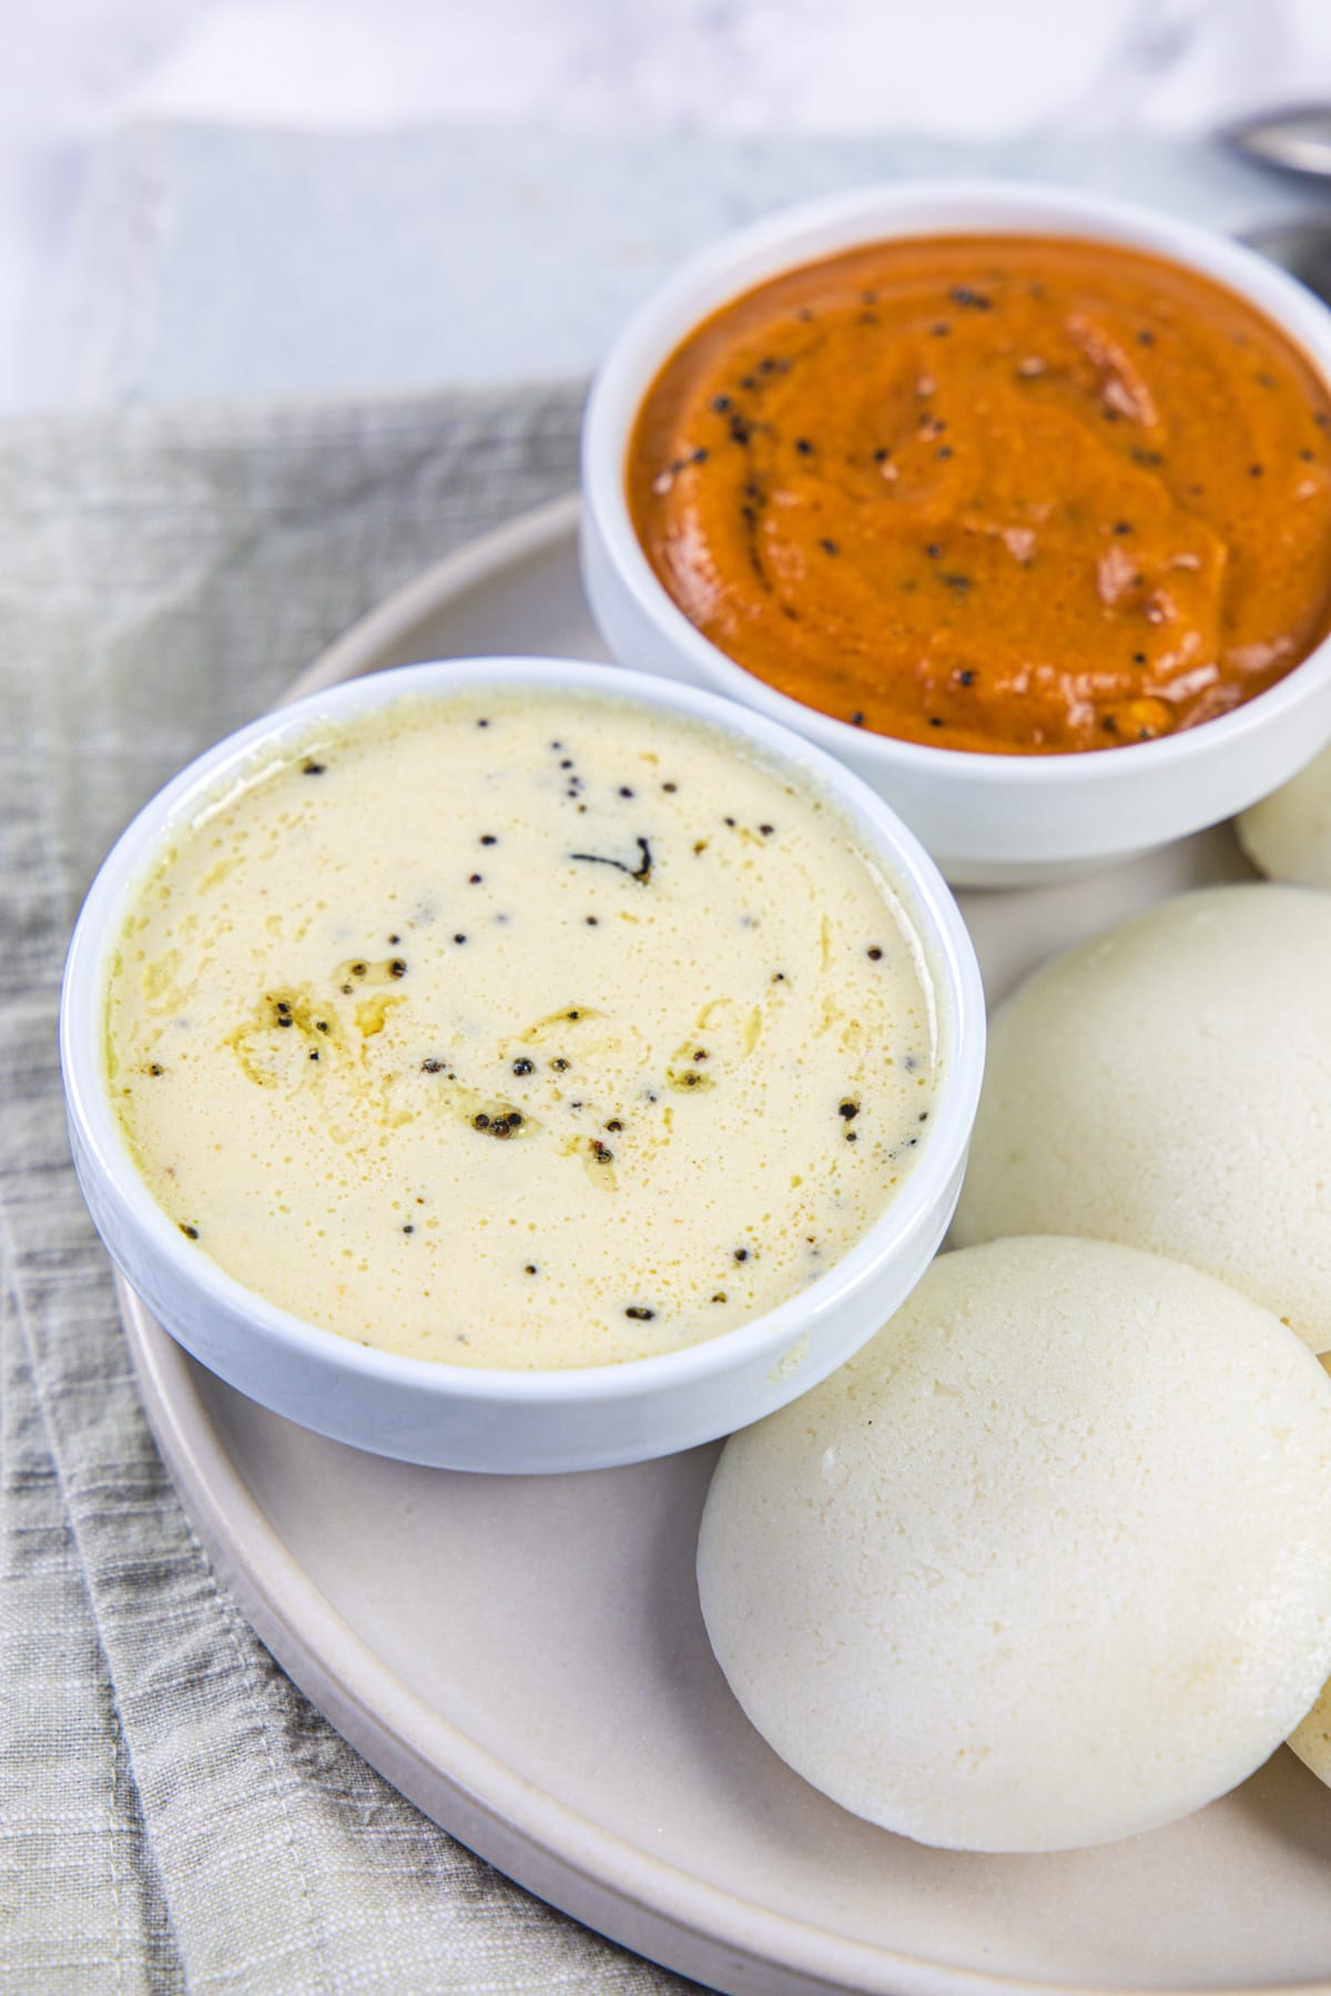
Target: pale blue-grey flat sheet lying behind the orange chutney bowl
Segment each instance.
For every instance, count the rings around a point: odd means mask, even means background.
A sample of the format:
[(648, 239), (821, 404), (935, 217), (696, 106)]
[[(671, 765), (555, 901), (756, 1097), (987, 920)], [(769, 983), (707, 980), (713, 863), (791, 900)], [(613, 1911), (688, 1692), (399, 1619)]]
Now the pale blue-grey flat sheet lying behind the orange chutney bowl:
[(726, 230), (840, 188), (960, 174), (1117, 194), (1221, 230), (1325, 200), (1315, 180), (1215, 144), (1104, 128), (966, 144), (690, 130), (668, 144), (511, 122), (118, 126), (92, 158), (42, 379), (86, 407), (241, 385), (573, 375), (680, 257)]

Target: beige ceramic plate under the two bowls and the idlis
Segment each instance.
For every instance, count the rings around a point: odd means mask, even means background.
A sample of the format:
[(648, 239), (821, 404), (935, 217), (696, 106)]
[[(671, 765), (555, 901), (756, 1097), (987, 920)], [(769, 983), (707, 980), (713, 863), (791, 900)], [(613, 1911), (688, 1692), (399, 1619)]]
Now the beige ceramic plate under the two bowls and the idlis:
[[(603, 655), (575, 503), (443, 563), (299, 691), (459, 653)], [(1227, 830), (1090, 882), (964, 896), (990, 992), (1161, 894), (1247, 872)], [(275, 1657), (423, 1810), (543, 1898), (720, 1990), (1331, 1988), (1331, 1794), (1281, 1752), (1106, 1850), (924, 1850), (748, 1727), (692, 1551), (712, 1451), (501, 1479), (359, 1455), (241, 1399), (124, 1297), (158, 1439)]]

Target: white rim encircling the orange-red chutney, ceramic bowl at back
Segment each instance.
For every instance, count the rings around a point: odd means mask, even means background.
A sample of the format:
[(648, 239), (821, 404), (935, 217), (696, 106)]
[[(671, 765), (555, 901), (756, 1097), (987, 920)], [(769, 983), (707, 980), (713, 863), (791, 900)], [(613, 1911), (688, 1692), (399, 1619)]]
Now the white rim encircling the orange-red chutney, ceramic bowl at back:
[[(966, 780), (980, 790), (1010, 784), (1034, 790), (1076, 782), (1104, 786), (1165, 776), (1279, 723), (1331, 681), (1327, 633), (1273, 687), (1195, 729), (1117, 748), (1000, 754), (876, 735), (780, 693), (730, 659), (688, 621), (651, 567), (629, 515), (625, 463), (643, 399), (680, 339), (728, 297), (778, 275), (852, 250), (910, 236), (1072, 236), (1181, 263), (1227, 285), (1261, 311), (1305, 357), (1331, 393), (1331, 309), (1279, 265), (1237, 238), (1117, 196), (1038, 180), (958, 178), (846, 188), (780, 208), (688, 257), (639, 305), (607, 351), (583, 417), (583, 493), (595, 531), (639, 613), (694, 673), (730, 699), (796, 729), (830, 754), (856, 756), (876, 776)], [(1125, 758), (1123, 750), (1129, 750)]]

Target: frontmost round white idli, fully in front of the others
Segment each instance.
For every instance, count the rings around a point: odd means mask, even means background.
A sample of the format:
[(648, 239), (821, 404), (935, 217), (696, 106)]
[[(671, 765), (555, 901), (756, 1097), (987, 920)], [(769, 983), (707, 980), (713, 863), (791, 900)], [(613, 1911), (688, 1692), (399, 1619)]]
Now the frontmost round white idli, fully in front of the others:
[(1331, 1381), (1269, 1311), (1010, 1240), (726, 1443), (698, 1587), (816, 1788), (918, 1842), (1062, 1850), (1279, 1746), (1331, 1669), (1329, 1517)]

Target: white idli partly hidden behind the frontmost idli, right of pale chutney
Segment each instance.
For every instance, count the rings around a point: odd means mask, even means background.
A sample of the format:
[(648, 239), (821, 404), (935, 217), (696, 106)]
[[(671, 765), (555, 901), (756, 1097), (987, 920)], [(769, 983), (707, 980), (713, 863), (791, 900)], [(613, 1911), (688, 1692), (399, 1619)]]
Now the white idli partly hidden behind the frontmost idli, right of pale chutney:
[(1004, 1234), (1151, 1248), (1331, 1345), (1331, 896), (1181, 894), (1000, 1006), (952, 1238)]

